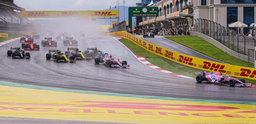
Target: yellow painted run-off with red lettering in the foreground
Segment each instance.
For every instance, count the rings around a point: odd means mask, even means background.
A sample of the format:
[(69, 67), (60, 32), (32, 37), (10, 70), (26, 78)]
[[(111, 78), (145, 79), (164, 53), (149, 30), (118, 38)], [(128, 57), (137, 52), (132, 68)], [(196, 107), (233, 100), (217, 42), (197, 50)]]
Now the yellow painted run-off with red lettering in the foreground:
[(0, 86), (0, 116), (119, 123), (255, 123), (256, 106)]

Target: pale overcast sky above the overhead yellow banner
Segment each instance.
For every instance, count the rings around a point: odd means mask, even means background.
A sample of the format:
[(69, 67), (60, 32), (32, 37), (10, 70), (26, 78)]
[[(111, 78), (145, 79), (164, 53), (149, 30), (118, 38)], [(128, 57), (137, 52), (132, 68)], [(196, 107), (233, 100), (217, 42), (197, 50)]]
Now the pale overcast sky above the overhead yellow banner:
[[(135, 6), (141, 0), (119, 0), (119, 5)], [(106, 10), (115, 7), (116, 0), (14, 0), (14, 3), (26, 11), (75, 11)]]

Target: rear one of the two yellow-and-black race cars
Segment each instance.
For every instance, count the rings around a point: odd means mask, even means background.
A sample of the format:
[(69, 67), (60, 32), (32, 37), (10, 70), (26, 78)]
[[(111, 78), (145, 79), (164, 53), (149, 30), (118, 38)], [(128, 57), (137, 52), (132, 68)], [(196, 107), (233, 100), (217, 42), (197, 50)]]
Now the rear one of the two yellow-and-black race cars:
[(68, 51), (65, 52), (65, 55), (74, 56), (76, 59), (92, 59), (91, 54), (85, 54), (84, 52), (79, 51), (78, 48), (68, 48)]

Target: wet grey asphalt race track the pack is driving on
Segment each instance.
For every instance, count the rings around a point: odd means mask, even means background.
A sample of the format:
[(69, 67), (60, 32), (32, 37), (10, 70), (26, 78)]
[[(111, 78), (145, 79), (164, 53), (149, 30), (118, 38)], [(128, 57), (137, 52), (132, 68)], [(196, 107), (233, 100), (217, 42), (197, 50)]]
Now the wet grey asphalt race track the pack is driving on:
[(165, 74), (142, 64), (124, 45), (110, 36), (75, 39), (78, 40), (80, 50), (98, 47), (120, 61), (126, 60), (131, 65), (130, 68), (109, 68), (102, 64), (94, 64), (93, 60), (77, 60), (76, 63), (46, 60), (45, 55), (49, 49), (60, 49), (64, 52), (68, 46), (63, 46), (62, 41), (58, 41), (58, 47), (42, 47), (41, 39), (35, 40), (40, 45), (39, 51), (27, 51), (30, 52), (31, 59), (12, 59), (7, 56), (10, 47), (21, 46), (19, 40), (0, 46), (0, 79), (78, 90), (256, 102), (256, 87), (196, 83), (192, 79)]

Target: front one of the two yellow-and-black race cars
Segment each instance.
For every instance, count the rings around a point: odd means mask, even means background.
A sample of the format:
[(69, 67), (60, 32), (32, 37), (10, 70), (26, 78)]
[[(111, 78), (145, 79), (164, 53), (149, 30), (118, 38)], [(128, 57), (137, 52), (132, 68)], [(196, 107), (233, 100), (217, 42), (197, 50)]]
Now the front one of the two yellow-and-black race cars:
[(76, 58), (74, 56), (69, 56), (61, 53), (60, 50), (49, 50), (49, 53), (46, 54), (46, 59), (53, 59), (56, 62), (76, 62)]

